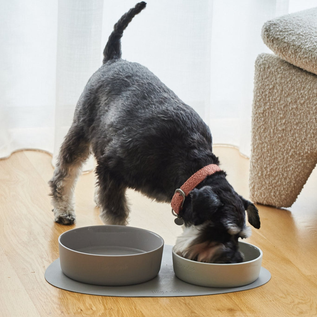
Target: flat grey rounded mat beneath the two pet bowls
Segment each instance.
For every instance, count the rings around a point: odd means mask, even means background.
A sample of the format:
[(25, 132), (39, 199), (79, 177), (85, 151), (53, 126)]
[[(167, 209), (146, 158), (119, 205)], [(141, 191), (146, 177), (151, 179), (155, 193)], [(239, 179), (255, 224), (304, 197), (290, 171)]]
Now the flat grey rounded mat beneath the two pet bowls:
[(129, 286), (99, 286), (74, 281), (61, 271), (59, 258), (55, 260), (45, 271), (45, 279), (50, 284), (68, 291), (121, 297), (170, 297), (170, 296), (198, 296), (238, 292), (256, 288), (267, 283), (271, 278), (270, 272), (261, 268), (259, 278), (242, 287), (234, 288), (209, 288), (192, 285), (178, 279), (173, 271), (172, 246), (165, 245), (159, 274), (145, 283)]

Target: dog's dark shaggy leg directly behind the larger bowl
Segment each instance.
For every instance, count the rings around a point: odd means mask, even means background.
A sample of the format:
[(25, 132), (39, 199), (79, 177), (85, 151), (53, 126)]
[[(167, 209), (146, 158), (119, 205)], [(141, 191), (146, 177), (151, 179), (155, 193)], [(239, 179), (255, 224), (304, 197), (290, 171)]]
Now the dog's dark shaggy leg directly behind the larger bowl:
[(104, 166), (97, 165), (97, 197), (100, 219), (104, 224), (127, 225), (129, 207), (126, 201), (126, 186), (113, 177)]

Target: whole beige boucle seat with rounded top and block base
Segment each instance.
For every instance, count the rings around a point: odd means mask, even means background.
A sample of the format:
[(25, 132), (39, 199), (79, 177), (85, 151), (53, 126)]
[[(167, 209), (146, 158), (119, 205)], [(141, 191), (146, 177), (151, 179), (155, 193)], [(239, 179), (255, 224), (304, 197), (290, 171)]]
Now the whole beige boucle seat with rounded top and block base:
[(250, 198), (290, 207), (317, 163), (317, 8), (268, 21), (262, 38), (282, 58), (256, 59)]

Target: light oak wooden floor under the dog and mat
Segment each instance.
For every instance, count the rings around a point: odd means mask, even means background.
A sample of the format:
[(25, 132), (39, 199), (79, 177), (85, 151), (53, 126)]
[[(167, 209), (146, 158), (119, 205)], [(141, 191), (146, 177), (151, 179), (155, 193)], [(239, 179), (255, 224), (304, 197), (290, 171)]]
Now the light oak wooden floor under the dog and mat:
[[(248, 197), (249, 160), (229, 147), (214, 149), (236, 191)], [(125, 298), (72, 293), (50, 285), (45, 269), (58, 258), (58, 236), (101, 224), (93, 202), (94, 174), (76, 187), (77, 223), (53, 221), (47, 181), (51, 156), (22, 151), (0, 160), (1, 316), (317, 316), (317, 171), (289, 209), (258, 205), (261, 229), (247, 239), (263, 250), (271, 280), (255, 289), (209, 296)], [(152, 230), (174, 244), (180, 227), (168, 204), (133, 191), (131, 226)]]

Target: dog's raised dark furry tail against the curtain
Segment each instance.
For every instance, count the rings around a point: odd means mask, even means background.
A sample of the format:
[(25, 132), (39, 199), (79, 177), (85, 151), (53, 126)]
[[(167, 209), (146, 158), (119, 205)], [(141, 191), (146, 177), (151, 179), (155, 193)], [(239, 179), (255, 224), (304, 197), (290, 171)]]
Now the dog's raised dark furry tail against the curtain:
[(103, 50), (103, 64), (111, 59), (121, 58), (121, 37), (123, 31), (132, 21), (133, 17), (140, 13), (146, 6), (144, 1), (137, 3), (134, 8), (130, 9), (114, 25), (113, 31), (109, 36), (105, 49)]

